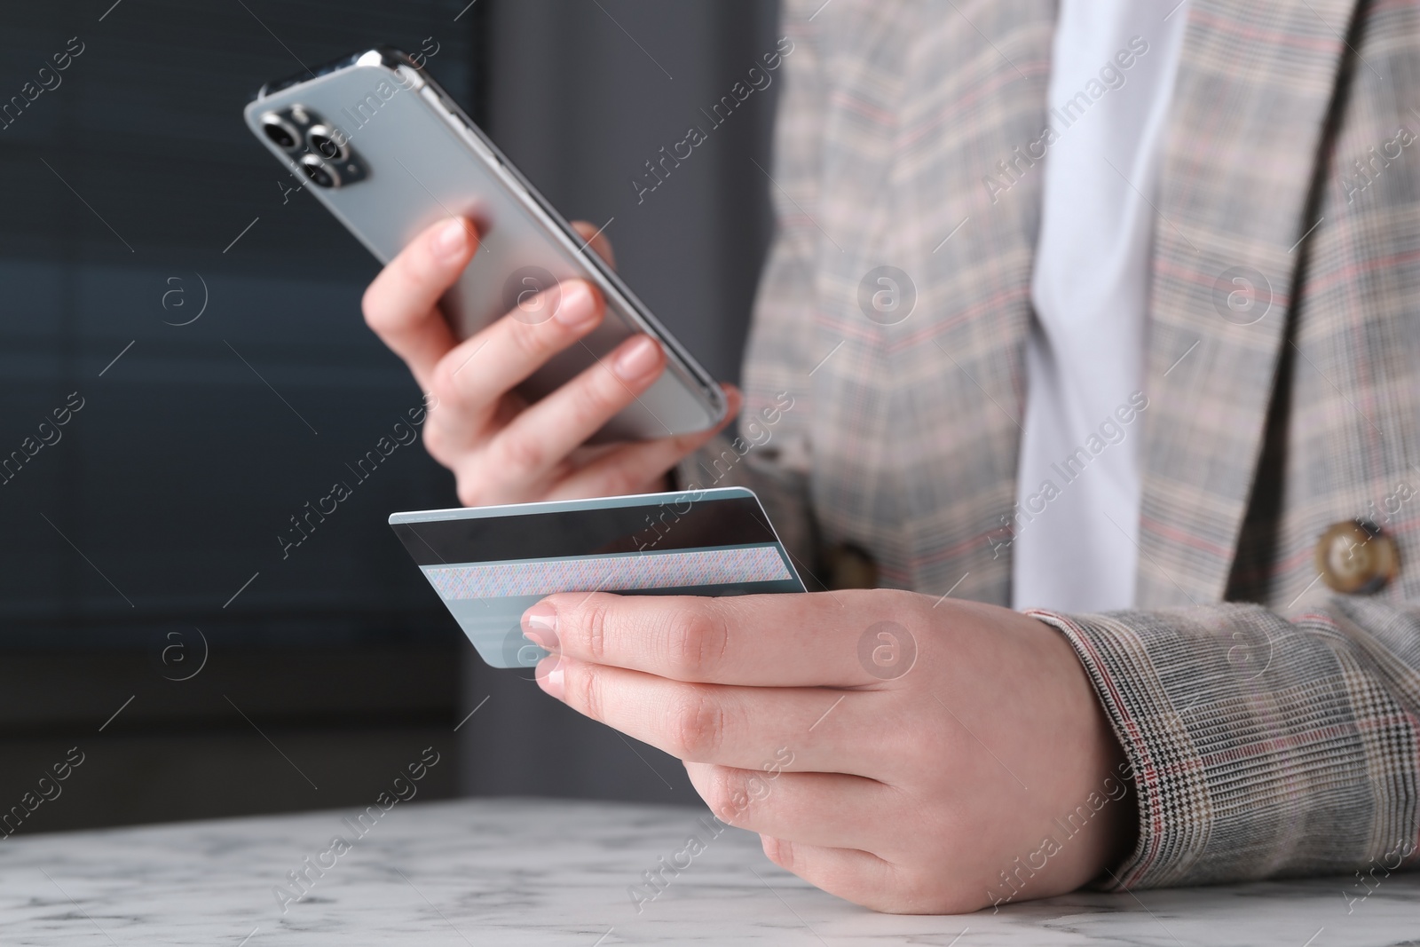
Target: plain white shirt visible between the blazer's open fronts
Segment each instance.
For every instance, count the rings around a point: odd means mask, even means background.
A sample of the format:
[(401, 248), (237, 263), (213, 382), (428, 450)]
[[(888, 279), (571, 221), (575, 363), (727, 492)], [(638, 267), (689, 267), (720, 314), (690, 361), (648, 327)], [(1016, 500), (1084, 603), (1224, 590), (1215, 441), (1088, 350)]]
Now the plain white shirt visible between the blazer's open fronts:
[(1174, 1), (1061, 0), (1055, 136), (1037, 168), (1045, 195), (1011, 524), (1015, 608), (1133, 605), (1150, 203), (1187, 21)]

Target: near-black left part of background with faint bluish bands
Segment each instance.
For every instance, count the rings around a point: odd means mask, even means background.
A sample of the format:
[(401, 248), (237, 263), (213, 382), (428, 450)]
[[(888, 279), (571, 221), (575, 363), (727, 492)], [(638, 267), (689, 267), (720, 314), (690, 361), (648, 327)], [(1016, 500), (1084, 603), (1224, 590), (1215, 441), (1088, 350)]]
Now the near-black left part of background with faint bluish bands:
[[(403, 447), (277, 544), (419, 392), (359, 318), (375, 261), (308, 193), (283, 199), (295, 182), (241, 109), (297, 60), (429, 35), (470, 101), (462, 6), (0, 4), (0, 101), (84, 44), (0, 128), (0, 456), (84, 399), (0, 486), (0, 806), (68, 747), (88, 760), (23, 832), (365, 805), (423, 747), (453, 755), (467, 642), (385, 524), (449, 505), (452, 477)], [(175, 325), (197, 274), (209, 305)], [(165, 310), (175, 288), (187, 305)]]

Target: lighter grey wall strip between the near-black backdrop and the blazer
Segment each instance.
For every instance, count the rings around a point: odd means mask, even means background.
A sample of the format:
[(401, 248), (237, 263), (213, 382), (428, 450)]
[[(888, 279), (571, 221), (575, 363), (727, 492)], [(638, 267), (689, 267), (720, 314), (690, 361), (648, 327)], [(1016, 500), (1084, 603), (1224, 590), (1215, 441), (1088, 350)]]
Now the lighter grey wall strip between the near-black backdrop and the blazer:
[[(480, 0), (487, 3), (488, 0)], [(622, 274), (713, 375), (738, 378), (770, 237), (775, 80), (719, 128), (710, 111), (778, 38), (778, 4), (750, 0), (498, 0), (487, 13), (490, 132), (568, 217), (606, 229)], [(639, 45), (638, 45), (639, 44)], [(645, 162), (707, 132), (638, 199)], [(515, 672), (464, 660), (462, 788), (693, 801), (677, 761), (547, 700)], [(471, 721), (470, 721), (471, 723)]]

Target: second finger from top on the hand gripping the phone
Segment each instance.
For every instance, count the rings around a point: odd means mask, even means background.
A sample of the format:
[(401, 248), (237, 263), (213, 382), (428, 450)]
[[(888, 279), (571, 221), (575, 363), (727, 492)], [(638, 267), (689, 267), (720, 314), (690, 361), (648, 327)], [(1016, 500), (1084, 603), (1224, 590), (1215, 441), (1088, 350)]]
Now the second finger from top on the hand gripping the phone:
[(430, 382), (442, 409), (435, 416), (450, 436), (481, 432), (507, 392), (596, 328), (604, 311), (601, 294), (582, 280), (538, 294), (527, 311), (547, 308), (545, 318), (506, 315), (439, 359)]

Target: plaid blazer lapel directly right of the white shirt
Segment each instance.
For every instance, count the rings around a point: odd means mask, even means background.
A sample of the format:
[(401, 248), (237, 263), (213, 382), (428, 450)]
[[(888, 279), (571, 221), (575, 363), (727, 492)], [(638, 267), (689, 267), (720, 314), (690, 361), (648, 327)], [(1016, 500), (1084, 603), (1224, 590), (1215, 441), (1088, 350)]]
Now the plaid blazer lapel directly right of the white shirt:
[[(1193, 0), (1157, 199), (1137, 605), (1223, 598), (1355, 0)], [(1365, 68), (1365, 67), (1362, 67)]]

